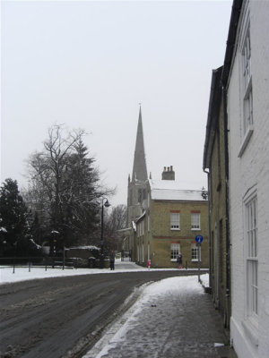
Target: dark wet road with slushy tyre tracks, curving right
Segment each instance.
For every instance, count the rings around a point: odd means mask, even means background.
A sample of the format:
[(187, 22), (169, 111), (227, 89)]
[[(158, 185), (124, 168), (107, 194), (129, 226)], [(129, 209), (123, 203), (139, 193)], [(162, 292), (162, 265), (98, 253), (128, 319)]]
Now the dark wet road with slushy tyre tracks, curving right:
[(6, 352), (9, 357), (23, 358), (80, 356), (82, 348), (98, 339), (102, 329), (115, 319), (135, 286), (186, 273), (141, 270), (2, 285), (2, 356)]

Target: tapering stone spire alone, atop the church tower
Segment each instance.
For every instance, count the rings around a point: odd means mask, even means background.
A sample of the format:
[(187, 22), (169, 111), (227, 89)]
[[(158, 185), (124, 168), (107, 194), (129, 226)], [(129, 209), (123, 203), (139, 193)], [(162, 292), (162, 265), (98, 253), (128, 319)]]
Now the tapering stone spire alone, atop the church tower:
[(138, 125), (136, 132), (136, 142), (134, 149), (134, 166), (132, 181), (146, 181), (148, 178), (147, 166), (145, 161), (144, 146), (143, 146), (143, 125), (142, 125), (142, 114), (141, 106), (139, 109)]

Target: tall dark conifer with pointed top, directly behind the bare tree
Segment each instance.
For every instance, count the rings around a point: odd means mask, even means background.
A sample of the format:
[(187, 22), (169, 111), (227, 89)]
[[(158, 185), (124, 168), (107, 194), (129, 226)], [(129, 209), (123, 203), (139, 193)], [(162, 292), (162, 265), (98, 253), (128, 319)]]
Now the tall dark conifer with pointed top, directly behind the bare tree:
[(80, 139), (74, 153), (66, 158), (63, 175), (63, 232), (65, 243), (87, 243), (90, 233), (99, 223), (99, 173), (89, 158), (88, 149)]

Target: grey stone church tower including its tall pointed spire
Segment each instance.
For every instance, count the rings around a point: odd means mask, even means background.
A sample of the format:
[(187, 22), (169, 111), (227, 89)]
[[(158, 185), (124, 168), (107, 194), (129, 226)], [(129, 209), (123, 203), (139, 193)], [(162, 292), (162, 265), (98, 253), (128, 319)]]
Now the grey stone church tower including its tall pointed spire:
[(128, 198), (127, 198), (127, 226), (132, 226), (132, 221), (140, 217), (143, 213), (143, 204), (146, 200), (146, 182), (148, 179), (145, 152), (143, 145), (143, 124), (141, 107), (136, 132), (134, 149), (134, 165), (132, 179), (128, 178)]

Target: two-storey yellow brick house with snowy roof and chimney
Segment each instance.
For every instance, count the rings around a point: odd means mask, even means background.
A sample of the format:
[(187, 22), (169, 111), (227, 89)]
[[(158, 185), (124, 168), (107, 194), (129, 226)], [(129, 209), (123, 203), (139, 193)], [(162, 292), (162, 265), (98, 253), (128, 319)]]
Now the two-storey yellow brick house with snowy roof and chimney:
[(147, 202), (143, 214), (135, 220), (134, 260), (152, 267), (198, 267), (199, 248), (195, 236), (201, 234), (201, 268), (208, 268), (208, 205), (203, 191), (180, 190), (172, 166), (165, 167), (162, 180), (147, 181)]

